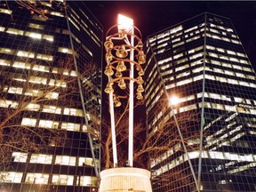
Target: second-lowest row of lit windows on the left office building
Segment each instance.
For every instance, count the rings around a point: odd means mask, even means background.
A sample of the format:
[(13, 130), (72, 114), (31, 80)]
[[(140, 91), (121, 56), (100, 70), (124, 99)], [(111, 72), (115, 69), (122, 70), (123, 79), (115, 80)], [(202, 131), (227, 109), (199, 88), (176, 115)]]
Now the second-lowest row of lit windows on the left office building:
[[(54, 158), (53, 158), (54, 157)], [(52, 156), (46, 154), (31, 154), (28, 159), (28, 153), (12, 152), (13, 162), (31, 164), (60, 164), (70, 166), (94, 166), (94, 161), (90, 157), (76, 157), (76, 156)], [(100, 164), (96, 159), (96, 164)]]

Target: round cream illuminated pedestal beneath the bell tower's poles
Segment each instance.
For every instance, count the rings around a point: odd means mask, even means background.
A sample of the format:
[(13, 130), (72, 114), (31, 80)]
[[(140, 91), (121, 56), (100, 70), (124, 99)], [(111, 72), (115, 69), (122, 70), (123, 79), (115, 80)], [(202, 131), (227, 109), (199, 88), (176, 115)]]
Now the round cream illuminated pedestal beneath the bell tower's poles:
[(100, 192), (152, 192), (148, 170), (121, 167), (100, 172)]

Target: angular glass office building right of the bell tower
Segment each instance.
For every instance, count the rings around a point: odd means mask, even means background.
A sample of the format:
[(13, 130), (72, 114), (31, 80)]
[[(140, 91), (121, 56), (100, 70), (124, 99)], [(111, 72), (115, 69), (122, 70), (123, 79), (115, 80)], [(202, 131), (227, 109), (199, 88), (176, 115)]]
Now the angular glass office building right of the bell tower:
[(148, 132), (172, 141), (151, 156), (154, 191), (255, 191), (255, 72), (231, 20), (203, 13), (149, 36), (146, 52)]

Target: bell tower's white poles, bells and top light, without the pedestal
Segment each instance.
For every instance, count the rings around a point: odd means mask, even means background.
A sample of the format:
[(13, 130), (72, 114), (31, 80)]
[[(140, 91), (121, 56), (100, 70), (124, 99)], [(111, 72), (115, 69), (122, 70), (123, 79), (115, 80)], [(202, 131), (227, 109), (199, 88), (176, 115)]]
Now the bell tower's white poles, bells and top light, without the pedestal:
[[(117, 32), (116, 32), (117, 27)], [(137, 100), (143, 100), (142, 92), (144, 71), (140, 65), (146, 62), (146, 56), (141, 42), (141, 33), (133, 26), (133, 20), (122, 14), (118, 14), (117, 25), (108, 29), (104, 44), (107, 66), (104, 74), (108, 76), (108, 84), (105, 92), (109, 95), (109, 110), (112, 134), (113, 161), (117, 167), (116, 128), (114, 107), (121, 105), (118, 96), (120, 90), (126, 90), (129, 81), (129, 142), (128, 142), (128, 166), (133, 166), (133, 97), (134, 82), (137, 83)], [(135, 55), (136, 54), (136, 55)], [(134, 67), (137, 70), (135, 77)], [(117, 85), (117, 86), (116, 86)], [(119, 90), (119, 91), (118, 91)], [(115, 92), (115, 93), (114, 93)]]

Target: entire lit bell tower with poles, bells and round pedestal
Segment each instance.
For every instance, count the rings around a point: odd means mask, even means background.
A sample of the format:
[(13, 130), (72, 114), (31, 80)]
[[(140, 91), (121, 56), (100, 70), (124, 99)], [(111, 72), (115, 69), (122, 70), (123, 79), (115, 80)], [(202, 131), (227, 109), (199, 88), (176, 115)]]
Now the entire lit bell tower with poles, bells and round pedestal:
[[(105, 92), (109, 97), (109, 111), (113, 148), (114, 168), (100, 172), (100, 192), (111, 191), (145, 191), (152, 192), (150, 172), (133, 168), (133, 98), (136, 84), (136, 99), (143, 100), (142, 92), (144, 71), (140, 65), (146, 62), (141, 42), (141, 33), (133, 26), (133, 20), (118, 14), (117, 24), (109, 28), (104, 44), (107, 66), (104, 74), (108, 76)], [(135, 69), (136, 70), (135, 70)], [(118, 167), (116, 151), (115, 110), (122, 103), (120, 94), (125, 93), (129, 82), (129, 135), (128, 135), (128, 167)], [(127, 97), (126, 97), (127, 98)]]

